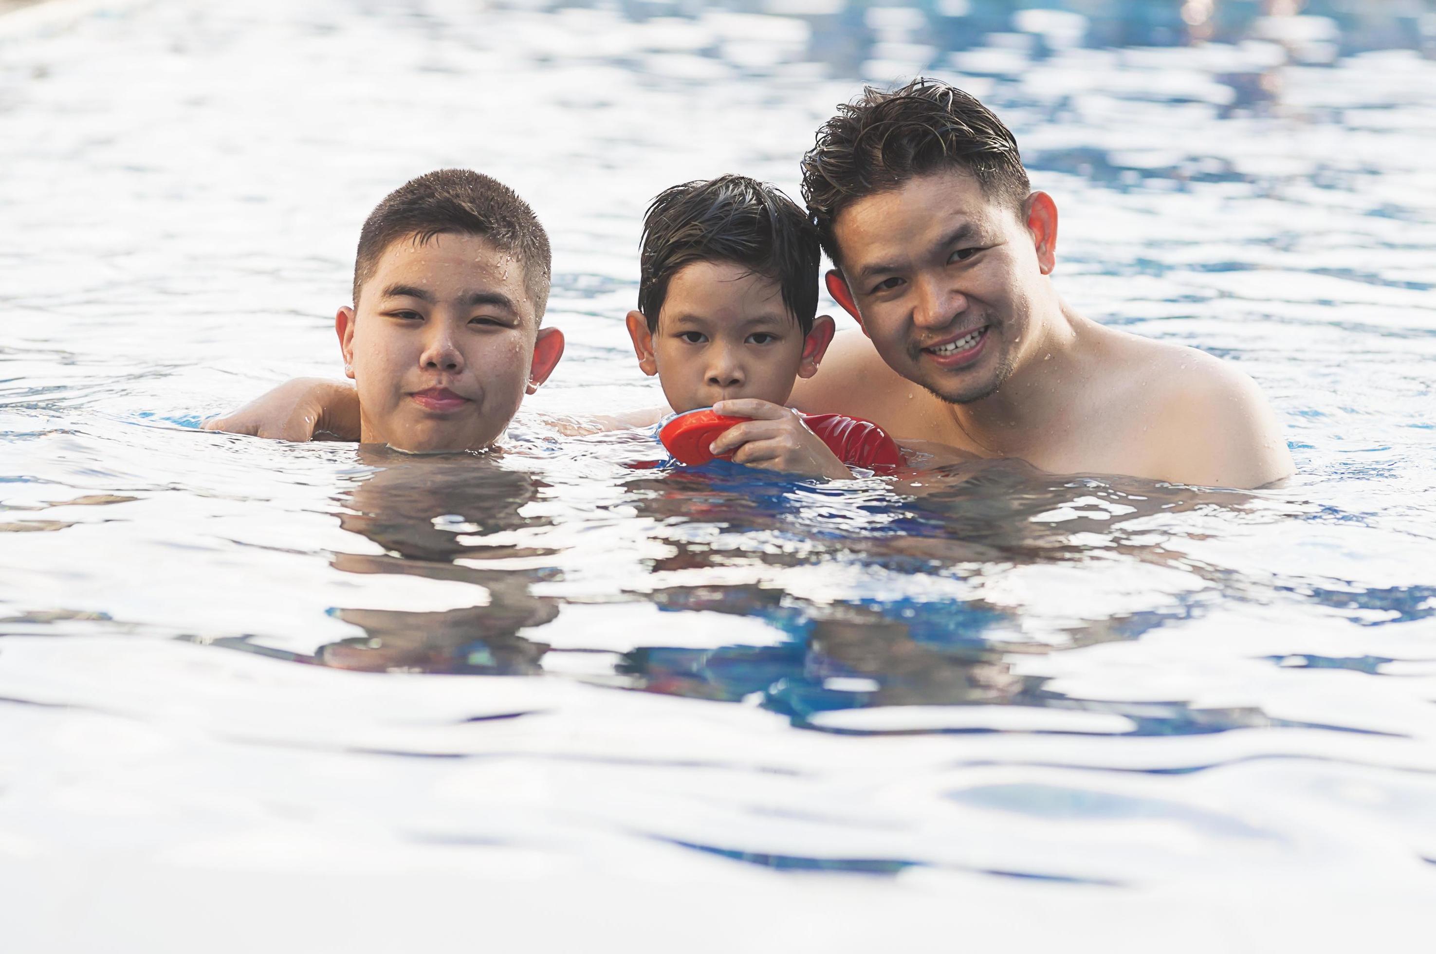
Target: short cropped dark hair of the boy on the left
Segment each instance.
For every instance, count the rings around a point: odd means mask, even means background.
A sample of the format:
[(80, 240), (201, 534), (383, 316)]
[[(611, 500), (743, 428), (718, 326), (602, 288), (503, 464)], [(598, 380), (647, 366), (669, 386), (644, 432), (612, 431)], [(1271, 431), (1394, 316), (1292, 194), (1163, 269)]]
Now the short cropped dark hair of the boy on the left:
[(409, 180), (369, 213), (355, 253), (355, 305), (385, 249), (409, 236), (425, 243), (442, 234), (481, 236), (514, 256), (524, 269), (534, 315), (543, 318), (553, 269), (549, 234), (514, 190), (470, 170), (438, 170)]

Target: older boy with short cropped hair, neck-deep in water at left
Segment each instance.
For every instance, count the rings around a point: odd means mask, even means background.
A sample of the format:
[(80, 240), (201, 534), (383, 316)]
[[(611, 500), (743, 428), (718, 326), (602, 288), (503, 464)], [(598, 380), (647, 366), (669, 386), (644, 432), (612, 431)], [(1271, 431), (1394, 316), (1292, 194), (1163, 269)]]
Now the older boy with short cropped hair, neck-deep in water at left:
[[(467, 170), (406, 182), (365, 221), (353, 305), (335, 316), (355, 391), (316, 404), (316, 389), (348, 388), (292, 381), (290, 417), (303, 420), (279, 415), (280, 427), (405, 451), (493, 445), (563, 356), (563, 332), (538, 326), (550, 269), (549, 236), (508, 187)], [(231, 418), (205, 428), (231, 430)]]

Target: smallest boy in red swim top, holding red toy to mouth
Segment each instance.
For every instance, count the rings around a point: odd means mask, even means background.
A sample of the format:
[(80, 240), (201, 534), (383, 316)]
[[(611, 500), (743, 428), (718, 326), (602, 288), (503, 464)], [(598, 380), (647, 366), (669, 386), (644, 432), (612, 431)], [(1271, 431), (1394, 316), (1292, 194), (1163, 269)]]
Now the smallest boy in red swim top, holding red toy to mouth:
[(675, 185), (649, 205), (629, 336), (673, 411), (748, 418), (714, 441), (715, 455), (831, 478), (902, 460), (867, 421), (785, 407), (833, 341), (833, 319), (817, 316), (819, 254), (807, 214), (751, 178)]

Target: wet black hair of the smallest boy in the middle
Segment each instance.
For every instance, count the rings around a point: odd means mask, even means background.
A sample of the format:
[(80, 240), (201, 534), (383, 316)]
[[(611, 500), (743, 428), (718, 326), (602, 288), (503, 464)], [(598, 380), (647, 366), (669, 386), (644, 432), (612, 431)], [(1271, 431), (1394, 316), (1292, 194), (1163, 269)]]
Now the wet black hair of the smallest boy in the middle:
[(817, 315), (817, 269), (821, 254), (807, 214), (777, 188), (745, 175), (684, 182), (666, 188), (643, 216), (638, 310), (648, 330), (668, 283), (694, 261), (731, 261), (773, 279), (783, 305), (807, 335)]

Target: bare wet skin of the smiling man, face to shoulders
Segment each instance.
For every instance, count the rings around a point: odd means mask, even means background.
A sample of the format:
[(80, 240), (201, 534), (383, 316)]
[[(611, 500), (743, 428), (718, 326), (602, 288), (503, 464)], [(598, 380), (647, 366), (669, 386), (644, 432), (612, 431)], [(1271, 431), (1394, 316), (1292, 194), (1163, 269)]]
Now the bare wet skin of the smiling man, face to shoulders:
[(1225, 487), (1291, 474), (1249, 378), (1097, 325), (1058, 297), (1050, 195), (1014, 207), (946, 170), (853, 203), (834, 237), (841, 272), (829, 290), (863, 338), (837, 336), (823, 372), (798, 382), (804, 411), (1051, 473)]

